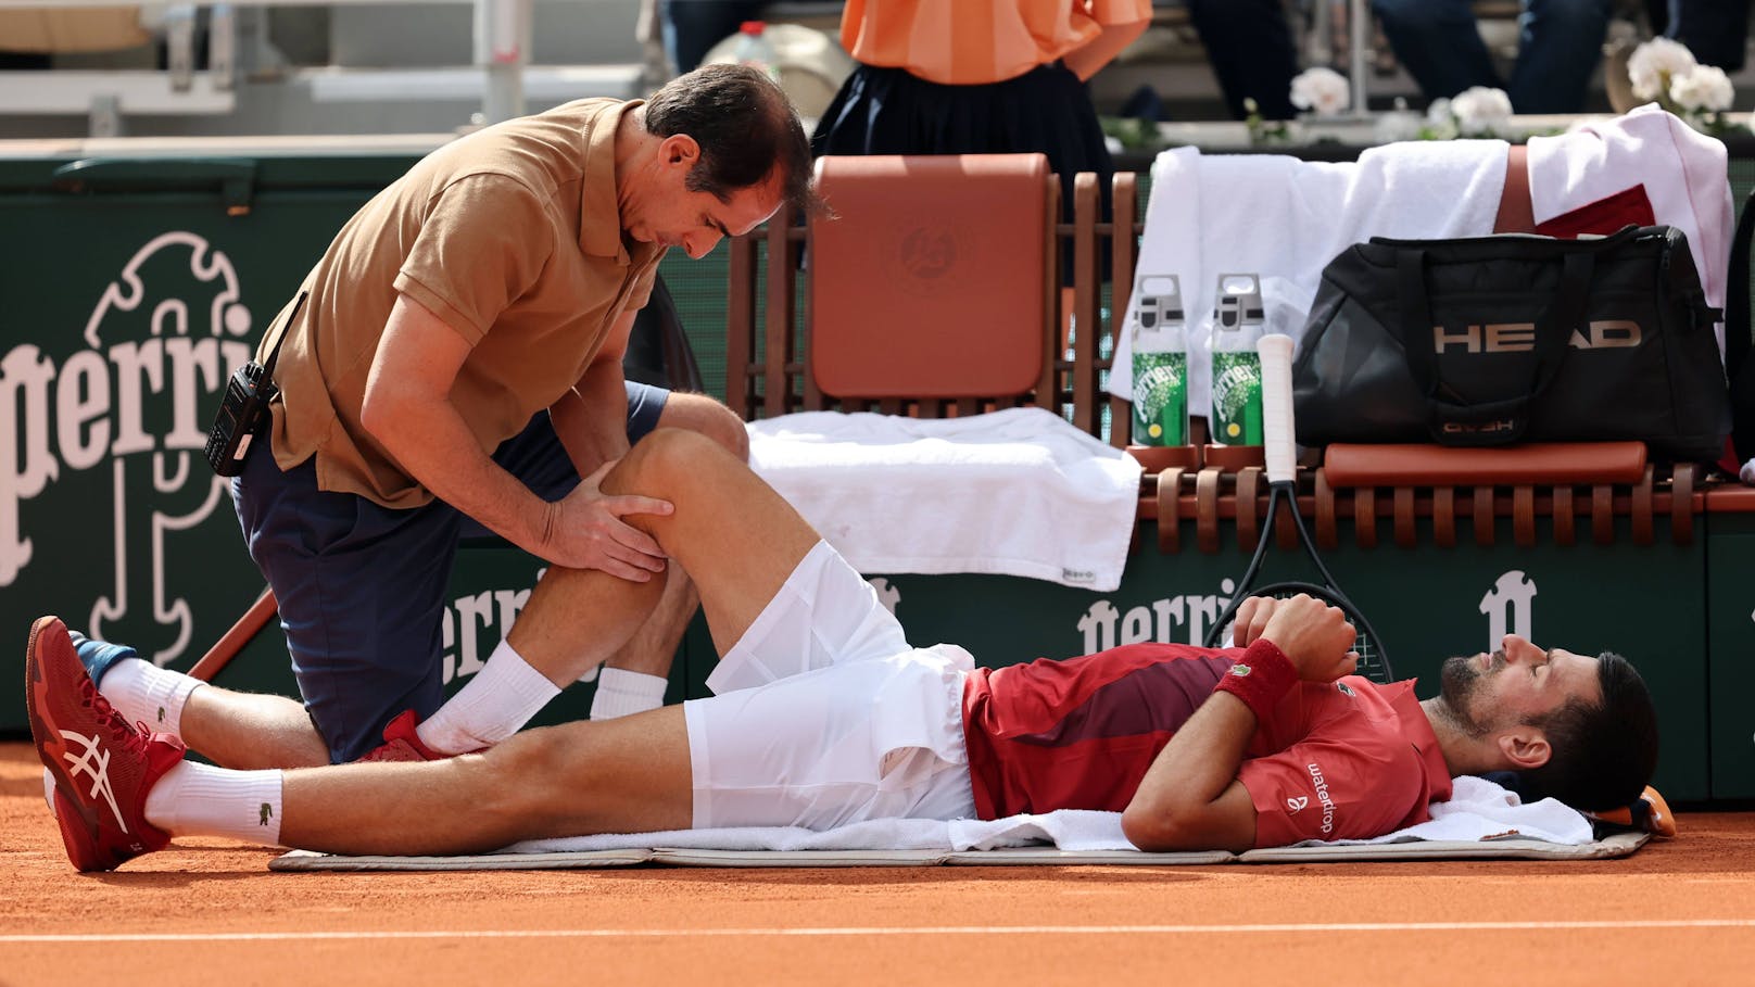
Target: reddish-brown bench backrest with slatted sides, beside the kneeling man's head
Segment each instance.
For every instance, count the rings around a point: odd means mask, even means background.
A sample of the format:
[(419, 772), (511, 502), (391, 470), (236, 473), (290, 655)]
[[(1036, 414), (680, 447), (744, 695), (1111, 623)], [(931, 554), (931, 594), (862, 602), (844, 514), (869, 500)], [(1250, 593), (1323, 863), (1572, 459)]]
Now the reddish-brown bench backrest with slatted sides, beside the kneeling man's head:
[[(941, 418), (1039, 406), (1125, 443), (1125, 404), (1121, 430), (1109, 429), (1100, 341), (1132, 288), (1132, 172), (1114, 176), (1127, 221), (1113, 227), (1095, 174), (1074, 177), (1072, 221), (1062, 221), (1060, 183), (1034, 155), (823, 162), (837, 220), (799, 223), (783, 209), (730, 244), (725, 400), (735, 413)], [(953, 216), (972, 232), (930, 234)], [(942, 256), (946, 244), (955, 256)], [(916, 285), (902, 290), (902, 279)], [(1067, 325), (1093, 330), (1069, 335)]]

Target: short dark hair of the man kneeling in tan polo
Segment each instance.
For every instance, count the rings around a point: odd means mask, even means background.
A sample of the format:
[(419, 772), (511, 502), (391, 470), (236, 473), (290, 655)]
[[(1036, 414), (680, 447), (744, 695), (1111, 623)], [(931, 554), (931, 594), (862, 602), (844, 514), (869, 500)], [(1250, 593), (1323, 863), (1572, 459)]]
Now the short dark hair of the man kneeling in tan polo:
[(786, 202), (813, 213), (821, 200), (811, 188), (811, 139), (786, 93), (749, 65), (702, 65), (677, 76), (646, 100), (646, 132), (686, 133), (700, 144), (700, 162), (688, 172), (690, 191), (720, 202), (781, 174)]

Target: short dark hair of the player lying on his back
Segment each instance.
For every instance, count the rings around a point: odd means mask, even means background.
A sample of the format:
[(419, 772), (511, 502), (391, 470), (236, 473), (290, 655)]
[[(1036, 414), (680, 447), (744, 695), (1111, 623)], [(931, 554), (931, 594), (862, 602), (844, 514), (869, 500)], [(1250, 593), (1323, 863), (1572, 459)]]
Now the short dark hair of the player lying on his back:
[(1602, 811), (1632, 804), (1657, 769), (1657, 708), (1634, 666), (1615, 652), (1597, 655), (1602, 704), (1567, 702), (1530, 720), (1548, 736), (1548, 762), (1522, 773), (1525, 801), (1555, 797)]

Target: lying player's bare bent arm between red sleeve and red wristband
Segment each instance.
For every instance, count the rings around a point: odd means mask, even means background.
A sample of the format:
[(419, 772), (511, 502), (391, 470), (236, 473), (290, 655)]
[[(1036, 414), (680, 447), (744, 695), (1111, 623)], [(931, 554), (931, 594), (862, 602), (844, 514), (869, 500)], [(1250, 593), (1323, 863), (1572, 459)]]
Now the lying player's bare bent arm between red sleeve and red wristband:
[(1121, 829), (1141, 850), (1248, 850), (1255, 804), (1237, 782), (1255, 713), (1228, 692), (1200, 704), (1158, 752)]

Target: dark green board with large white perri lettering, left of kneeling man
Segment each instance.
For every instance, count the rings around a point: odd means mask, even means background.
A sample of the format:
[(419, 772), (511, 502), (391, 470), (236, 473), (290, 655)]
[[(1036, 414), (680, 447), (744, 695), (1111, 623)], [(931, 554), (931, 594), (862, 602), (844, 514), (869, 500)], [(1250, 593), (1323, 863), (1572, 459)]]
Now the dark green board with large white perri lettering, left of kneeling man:
[[(256, 599), (202, 457), (218, 395), (407, 162), (0, 163), (0, 629), (19, 664), (54, 613), (188, 667)], [(23, 724), (7, 692), (0, 725)]]

